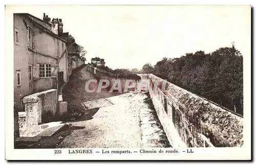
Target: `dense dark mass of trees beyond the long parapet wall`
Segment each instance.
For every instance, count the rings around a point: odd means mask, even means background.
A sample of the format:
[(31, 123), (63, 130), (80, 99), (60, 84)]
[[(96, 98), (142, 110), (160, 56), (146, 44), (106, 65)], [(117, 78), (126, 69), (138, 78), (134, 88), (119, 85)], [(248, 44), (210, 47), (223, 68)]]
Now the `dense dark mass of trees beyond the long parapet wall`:
[(183, 89), (243, 114), (243, 56), (232, 47), (212, 53), (186, 53), (166, 57), (154, 67), (145, 64), (142, 73), (153, 73)]

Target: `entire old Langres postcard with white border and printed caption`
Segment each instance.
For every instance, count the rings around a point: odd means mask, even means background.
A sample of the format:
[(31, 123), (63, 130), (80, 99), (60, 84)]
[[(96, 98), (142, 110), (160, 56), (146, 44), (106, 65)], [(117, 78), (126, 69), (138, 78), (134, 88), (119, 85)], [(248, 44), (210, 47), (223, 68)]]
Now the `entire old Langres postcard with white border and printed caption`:
[(6, 160), (251, 160), (251, 6), (5, 12)]

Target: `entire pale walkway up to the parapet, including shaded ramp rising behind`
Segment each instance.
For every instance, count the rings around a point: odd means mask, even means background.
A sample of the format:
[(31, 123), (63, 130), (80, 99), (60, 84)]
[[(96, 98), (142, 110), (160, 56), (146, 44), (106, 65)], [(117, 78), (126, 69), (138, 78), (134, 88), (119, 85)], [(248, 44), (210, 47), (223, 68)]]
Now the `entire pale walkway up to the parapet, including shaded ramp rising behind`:
[(94, 75), (83, 68), (75, 76), (67, 101), (86, 110), (81, 119), (71, 122), (81, 129), (73, 130), (58, 148), (170, 147), (146, 93), (87, 93), (84, 84)]

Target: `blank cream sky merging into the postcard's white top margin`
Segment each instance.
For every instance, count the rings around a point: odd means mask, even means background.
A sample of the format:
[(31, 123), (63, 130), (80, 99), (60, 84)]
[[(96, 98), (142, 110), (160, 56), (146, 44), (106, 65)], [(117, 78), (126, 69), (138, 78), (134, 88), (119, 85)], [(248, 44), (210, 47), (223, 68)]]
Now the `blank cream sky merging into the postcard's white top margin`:
[(251, 52), (250, 6), (12, 6), (38, 18), (61, 18), (63, 32), (75, 37), (88, 54), (112, 69), (155, 65), (174, 58), (221, 47)]

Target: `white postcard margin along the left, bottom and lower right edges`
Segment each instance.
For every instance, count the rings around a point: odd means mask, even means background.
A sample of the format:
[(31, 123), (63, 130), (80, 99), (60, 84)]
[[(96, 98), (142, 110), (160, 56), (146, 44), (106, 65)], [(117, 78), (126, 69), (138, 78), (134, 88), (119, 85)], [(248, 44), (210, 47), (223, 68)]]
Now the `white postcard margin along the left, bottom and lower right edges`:
[[(26, 7), (24, 7), (26, 9)], [(14, 149), (13, 144), (13, 13), (17, 8), (6, 6), (5, 19), (5, 158), (7, 160), (248, 160), (251, 158), (251, 54), (244, 54), (244, 146), (241, 148), (192, 148), (194, 153), (186, 154), (142, 154), (140, 149), (145, 148), (111, 148), (92, 149), (101, 150), (130, 150), (132, 154), (69, 154), (74, 149)], [(22, 10), (22, 9), (21, 9)], [(20, 10), (20, 11), (21, 11)], [(26, 10), (25, 10), (26, 11)], [(19, 12), (19, 11), (18, 11)], [(12, 36), (12, 37), (9, 37)], [(250, 40), (251, 38), (248, 38)], [(251, 45), (248, 45), (248, 52)], [(174, 150), (173, 148), (172, 150)], [(61, 150), (61, 154), (54, 154), (54, 150)], [(152, 150), (152, 148), (147, 149)], [(170, 150), (162, 148), (162, 150)], [(182, 149), (176, 149), (182, 150)], [(186, 149), (184, 149), (186, 150)], [(159, 148), (156, 149), (159, 151)]]

